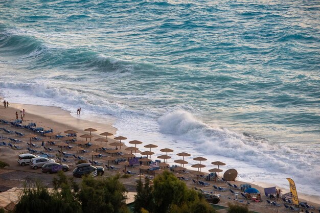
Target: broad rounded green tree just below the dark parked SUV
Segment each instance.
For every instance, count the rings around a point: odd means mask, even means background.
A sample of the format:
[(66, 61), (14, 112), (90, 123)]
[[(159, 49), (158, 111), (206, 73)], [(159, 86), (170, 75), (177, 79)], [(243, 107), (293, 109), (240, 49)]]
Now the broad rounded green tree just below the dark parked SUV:
[(82, 179), (78, 197), (83, 213), (125, 213), (128, 212), (125, 192), (119, 175), (100, 179), (87, 176)]

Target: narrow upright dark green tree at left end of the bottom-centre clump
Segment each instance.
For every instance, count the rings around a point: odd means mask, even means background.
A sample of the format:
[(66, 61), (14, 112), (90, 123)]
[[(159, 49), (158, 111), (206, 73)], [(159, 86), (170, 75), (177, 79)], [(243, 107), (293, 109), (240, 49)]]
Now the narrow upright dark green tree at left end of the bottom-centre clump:
[(142, 208), (149, 212), (154, 211), (153, 187), (150, 179), (146, 177), (145, 184), (141, 180), (136, 184), (136, 195), (134, 196), (134, 212), (142, 212)]

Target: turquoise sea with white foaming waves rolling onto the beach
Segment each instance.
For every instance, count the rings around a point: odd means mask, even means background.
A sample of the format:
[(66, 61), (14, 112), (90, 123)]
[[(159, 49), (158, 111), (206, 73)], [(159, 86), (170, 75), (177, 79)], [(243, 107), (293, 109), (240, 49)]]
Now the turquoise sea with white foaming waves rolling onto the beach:
[(318, 1), (2, 0), (0, 96), (320, 196), (319, 20)]

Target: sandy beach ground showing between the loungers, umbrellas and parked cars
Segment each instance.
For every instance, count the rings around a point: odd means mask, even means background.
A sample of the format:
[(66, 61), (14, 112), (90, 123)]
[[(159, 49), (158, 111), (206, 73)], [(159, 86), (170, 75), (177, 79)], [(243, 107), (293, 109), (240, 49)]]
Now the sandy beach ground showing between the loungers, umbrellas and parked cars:
[[(14, 121), (15, 119), (15, 112), (18, 111), (18, 113), (20, 114), (20, 111), (22, 111), (22, 109), (26, 109), (26, 116), (25, 116), (25, 120), (22, 123), (22, 125), (28, 125), (31, 122), (34, 122), (37, 124), (37, 127), (43, 127), (44, 130), (49, 130), (49, 129), (53, 129), (53, 131), (55, 133), (61, 134), (61, 135), (65, 135), (65, 133), (63, 133), (63, 131), (68, 130), (68, 129), (72, 129), (72, 130), (76, 130), (78, 131), (77, 135), (82, 135), (82, 134), (88, 134), (88, 132), (83, 131), (86, 128), (95, 128), (98, 131), (96, 132), (92, 132), (92, 134), (94, 135), (94, 137), (92, 138), (92, 143), (93, 144), (99, 144), (97, 141), (94, 141), (95, 139), (99, 138), (99, 137), (103, 137), (101, 135), (99, 135), (102, 132), (111, 132), (113, 134), (117, 133), (117, 129), (112, 127), (112, 119), (106, 118), (106, 122), (108, 123), (108, 125), (106, 124), (101, 124), (98, 122), (90, 122), (90, 121), (86, 121), (81, 119), (82, 115), (78, 115), (78, 117), (74, 117), (70, 114), (70, 112), (68, 111), (64, 111), (58, 107), (47, 107), (47, 106), (37, 106), (37, 105), (25, 105), (25, 104), (14, 104), (14, 103), (10, 103), (9, 108), (4, 108), (3, 105), (0, 106), (0, 119), (4, 119), (7, 121)], [(20, 117), (20, 116), (19, 116)], [(102, 118), (103, 119), (103, 118)], [(33, 133), (30, 130), (27, 130), (25, 128), (18, 128), (18, 127), (14, 127), (11, 124), (3, 124), (0, 123), (0, 128), (6, 128), (7, 130), (12, 130), (12, 131), (18, 131), (20, 133), (23, 134), (29, 134), (29, 133)], [(17, 136), (16, 134), (7, 134), (6, 132), (0, 130), (0, 135), (4, 136), (4, 137), (13, 137), (16, 139), (20, 139), (23, 142), (18, 144), (20, 147), (23, 147), (23, 149), (21, 150), (14, 150), (11, 149), (9, 146), (2, 146), (1, 151), (0, 151), (0, 160), (8, 162), (10, 164), (10, 167), (7, 167), (6, 169), (0, 169), (0, 188), (11, 188), (11, 187), (20, 187), (22, 185), (22, 183), (26, 180), (26, 177), (30, 178), (40, 178), (42, 179), (48, 186), (51, 185), (51, 180), (52, 178), (55, 176), (54, 174), (52, 175), (48, 175), (48, 174), (42, 174), (41, 170), (32, 170), (29, 166), (26, 167), (21, 167), (20, 165), (17, 164), (17, 156), (20, 153), (27, 153), (27, 141), (29, 141), (29, 138), (25, 138), (25, 137), (20, 137)], [(123, 135), (128, 137), (128, 135)], [(39, 135), (39, 137), (41, 137)], [(110, 143), (116, 141), (113, 138), (113, 136), (108, 137), (108, 143), (106, 146), (106, 148), (111, 148), (111, 146), (109, 146)], [(84, 139), (84, 138), (80, 138), (77, 137), (78, 140), (80, 139)], [(88, 139), (89, 140), (89, 139)], [(0, 142), (5, 141), (5, 143), (10, 143), (9, 139), (4, 139), (1, 140)], [(129, 147), (130, 144), (128, 144), (129, 139), (124, 140), (123, 143), (125, 143), (125, 145), (121, 148), (121, 150), (119, 149), (119, 151), (125, 153), (129, 151), (125, 151), (126, 147)], [(141, 139), (141, 141), (143, 141), (143, 139)], [(36, 144), (40, 145), (40, 142), (35, 142)], [(104, 143), (102, 144), (104, 145)], [(147, 149), (144, 148), (143, 146), (145, 146), (147, 144), (141, 144), (141, 145), (137, 145), (138, 148), (141, 148), (142, 150), (146, 151)], [(77, 146), (76, 144), (72, 144), (72, 146)], [(50, 146), (53, 149), (57, 149), (54, 146)], [(165, 147), (161, 147), (161, 145), (158, 145), (157, 149), (162, 149)], [(90, 148), (87, 148), (88, 150), (90, 150)], [(42, 147), (38, 148), (37, 150), (39, 151), (44, 151), (44, 149)], [(91, 151), (91, 150), (90, 150)], [(67, 151), (68, 153), (72, 153), (74, 154), (75, 152), (72, 151)], [(178, 152), (183, 152), (183, 150), (175, 150), (175, 152), (173, 152), (173, 154), (176, 154)], [(103, 155), (107, 155), (106, 152), (102, 152), (100, 151), (101, 154)], [(55, 153), (54, 153), (55, 154)], [(134, 153), (133, 153), (134, 154)], [(172, 153), (171, 153), (172, 154)], [(82, 156), (86, 157), (87, 159), (90, 159), (91, 157), (86, 156), (85, 154), (82, 154)], [(119, 157), (119, 156), (118, 156)], [(192, 157), (192, 156), (191, 156)], [(205, 156), (203, 156), (205, 157)], [(155, 158), (155, 156), (153, 157), (153, 159)], [(57, 159), (56, 159), (57, 160)], [(103, 164), (107, 163), (107, 161), (104, 161), (102, 159), (97, 159), (99, 162), (103, 162)], [(169, 162), (170, 160), (168, 160)], [(171, 162), (169, 162), (171, 163)], [(72, 170), (75, 167), (75, 163), (68, 163), (70, 165), (70, 170), (66, 173), (68, 176), (72, 176)], [(113, 163), (111, 163), (113, 164)], [(172, 163), (171, 163), (172, 164)], [(176, 164), (176, 163), (173, 163)], [(117, 168), (119, 168), (119, 170), (117, 171), (105, 171), (104, 175), (112, 175), (115, 174), (117, 172), (122, 173), (122, 167), (121, 165), (115, 165)], [(237, 169), (237, 168), (235, 168)], [(135, 173), (139, 173), (139, 169), (138, 168), (130, 168), (130, 171), (135, 172)], [(10, 174), (10, 173), (18, 173), (19, 175), (16, 178), (13, 178), (12, 176), (2, 176), (4, 174)], [(194, 176), (192, 176), (190, 173), (185, 174), (187, 177), (195, 178)], [(222, 174), (220, 173), (220, 176)], [(7, 177), (7, 178), (4, 178)], [(122, 178), (121, 181), (126, 185), (128, 190), (134, 191), (135, 190), (135, 181), (136, 179), (138, 179), (138, 175), (133, 175), (130, 178)], [(81, 181), (81, 179), (77, 179), (77, 181)], [(261, 203), (255, 203), (251, 200), (243, 200), (241, 198), (235, 197), (231, 192), (226, 191), (226, 192), (216, 192), (214, 191), (213, 185), (217, 185), (217, 186), (221, 186), (221, 187), (227, 187), (226, 183), (224, 182), (212, 182), (209, 181), (210, 186), (206, 186), (206, 187), (200, 187), (199, 185), (195, 185), (192, 183), (191, 180), (186, 181), (187, 185), (190, 187), (198, 187), (201, 188), (204, 191), (208, 191), (208, 192), (213, 192), (214, 194), (220, 194), (221, 195), (221, 201), (219, 203), (219, 205), (223, 205), (226, 206), (228, 202), (239, 202), (236, 201), (234, 199), (238, 199), (238, 200), (242, 200), (242, 202), (239, 203), (244, 203), (246, 204), (247, 202), (249, 202), (248, 207), (250, 210), (254, 210), (257, 212), (286, 212), (286, 209), (284, 208), (283, 205), (283, 201), (282, 200), (278, 200), (277, 202), (279, 204), (281, 204), (281, 206), (279, 207), (279, 209), (277, 209), (277, 207), (274, 206), (270, 206), (267, 204), (266, 202), (266, 198), (264, 196), (264, 191), (263, 191), (263, 186), (269, 186), (268, 184), (264, 184), (264, 183), (260, 183), (260, 182), (255, 182), (255, 184), (250, 183), (252, 185), (252, 187), (256, 187), (261, 193), (262, 195), (262, 199), (263, 202)], [(240, 186), (240, 184), (243, 184), (244, 182), (241, 181), (231, 181), (231, 184), (237, 184), (238, 186)], [(284, 191), (283, 193), (286, 193), (286, 191)], [(315, 206), (316, 209), (319, 208), (320, 205), (320, 198), (317, 196), (312, 196), (312, 195), (306, 195), (306, 194), (300, 194), (298, 192), (298, 195), (300, 197), (300, 201), (306, 201), (308, 202), (308, 204), (311, 204), (313, 206)], [(0, 206), (1, 207), (1, 206)], [(225, 212), (224, 210), (220, 210), (219, 212)]]

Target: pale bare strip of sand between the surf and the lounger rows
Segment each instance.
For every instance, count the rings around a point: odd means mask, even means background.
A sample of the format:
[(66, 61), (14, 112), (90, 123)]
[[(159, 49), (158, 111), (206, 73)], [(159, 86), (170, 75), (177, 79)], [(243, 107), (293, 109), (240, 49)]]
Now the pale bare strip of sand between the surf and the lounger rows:
[[(107, 132), (116, 134), (118, 131), (117, 128), (112, 126), (114, 122), (112, 121), (112, 119), (106, 118), (104, 122), (107, 124), (87, 121), (84, 119), (74, 117), (71, 114), (72, 112), (70, 111), (63, 110), (60, 107), (54, 107), (54, 106), (39, 106), (39, 105), (10, 103), (9, 108), (6, 108), (6, 109), (4, 109), (3, 105), (0, 105), (0, 116), (3, 119), (13, 121), (15, 119), (15, 111), (22, 110), (22, 109), (26, 109), (26, 116), (23, 124), (35, 122), (37, 123), (37, 126), (43, 127), (45, 130), (53, 129), (53, 131), (57, 133), (63, 132), (67, 129), (73, 129), (78, 131), (78, 135), (81, 135), (82, 133), (87, 134), (88, 132), (83, 131), (83, 129), (91, 127), (98, 130), (97, 133), (92, 132), (92, 134), (95, 135), (95, 137), (103, 137), (99, 135), (99, 133), (107, 131)], [(126, 136), (126, 135), (123, 135), (123, 136)], [(108, 140), (116, 141), (109, 137), (108, 137)], [(128, 145), (127, 141), (124, 141), (124, 143)], [(127, 147), (126, 145), (122, 147), (121, 151), (125, 152), (124, 149), (125, 147)], [(158, 147), (158, 148), (162, 148), (162, 147)], [(249, 183), (253, 187), (257, 187), (260, 189), (262, 189), (263, 186), (264, 187), (270, 186), (269, 183), (264, 183), (259, 181), (254, 181), (254, 182), (236, 181), (236, 182), (237, 184)], [(275, 186), (275, 185), (272, 185), (272, 186)], [(299, 188), (299, 185), (298, 185), (298, 188)], [(283, 190), (283, 194), (287, 192), (288, 192), (287, 190)], [(262, 192), (262, 194), (264, 193)], [(308, 202), (320, 204), (320, 196), (299, 193), (299, 197)]]

